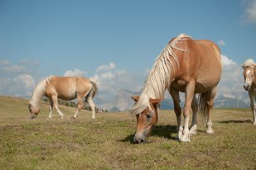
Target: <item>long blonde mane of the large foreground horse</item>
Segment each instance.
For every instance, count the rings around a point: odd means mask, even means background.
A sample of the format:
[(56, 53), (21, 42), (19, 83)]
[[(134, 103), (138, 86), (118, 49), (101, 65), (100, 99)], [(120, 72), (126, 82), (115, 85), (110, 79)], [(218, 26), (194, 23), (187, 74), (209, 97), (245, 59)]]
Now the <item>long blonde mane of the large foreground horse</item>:
[(171, 85), (171, 78), (175, 75), (174, 65), (170, 57), (175, 60), (176, 67), (179, 68), (179, 59), (176, 57), (173, 50), (186, 51), (185, 49), (177, 47), (181, 40), (186, 39), (191, 39), (191, 37), (185, 34), (178, 35), (174, 40), (171, 40), (171, 43), (169, 43), (158, 55), (157, 59), (155, 59), (155, 64), (147, 75), (142, 95), (130, 110), (131, 113), (138, 115), (147, 107), (152, 110), (149, 104), (149, 98), (155, 99), (164, 97), (164, 92), (167, 87)]

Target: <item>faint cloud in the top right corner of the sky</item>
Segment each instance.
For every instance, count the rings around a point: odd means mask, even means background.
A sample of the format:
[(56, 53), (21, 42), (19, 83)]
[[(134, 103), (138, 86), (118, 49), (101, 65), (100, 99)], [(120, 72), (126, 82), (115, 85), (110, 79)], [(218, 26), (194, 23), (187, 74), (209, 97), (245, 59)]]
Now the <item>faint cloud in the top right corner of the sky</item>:
[(256, 0), (250, 1), (244, 9), (245, 21), (256, 24)]

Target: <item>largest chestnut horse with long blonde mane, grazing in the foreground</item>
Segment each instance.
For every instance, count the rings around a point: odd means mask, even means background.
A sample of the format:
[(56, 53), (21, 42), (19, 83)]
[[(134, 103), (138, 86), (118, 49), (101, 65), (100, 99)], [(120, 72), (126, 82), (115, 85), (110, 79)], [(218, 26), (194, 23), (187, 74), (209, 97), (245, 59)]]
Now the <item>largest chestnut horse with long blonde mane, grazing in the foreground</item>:
[[(210, 115), (221, 73), (220, 49), (215, 43), (210, 40), (193, 40), (184, 34), (173, 38), (157, 57), (147, 75), (141, 96), (133, 97), (136, 103), (131, 112), (137, 116), (134, 143), (144, 142), (152, 126), (157, 123), (159, 102), (162, 101), (166, 89), (174, 102), (178, 139), (188, 142), (190, 135), (196, 133), (196, 93), (200, 93), (200, 113), (207, 118), (206, 133), (213, 133)], [(181, 125), (179, 92), (186, 94), (183, 109), (184, 128)], [(194, 114), (190, 133), (191, 107)]]

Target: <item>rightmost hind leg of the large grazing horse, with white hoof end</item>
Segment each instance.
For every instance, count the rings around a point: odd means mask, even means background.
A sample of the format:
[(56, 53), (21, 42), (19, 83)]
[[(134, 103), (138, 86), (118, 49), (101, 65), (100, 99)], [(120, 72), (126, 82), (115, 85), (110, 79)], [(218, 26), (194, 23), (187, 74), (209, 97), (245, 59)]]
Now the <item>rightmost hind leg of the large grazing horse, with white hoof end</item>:
[(212, 126), (212, 121), (211, 121), (211, 112), (212, 112), (212, 107), (214, 106), (214, 98), (217, 92), (217, 87), (214, 87), (211, 91), (210, 91), (210, 95), (207, 101), (207, 123), (206, 123), (206, 133), (207, 134), (213, 134), (214, 131), (211, 129)]

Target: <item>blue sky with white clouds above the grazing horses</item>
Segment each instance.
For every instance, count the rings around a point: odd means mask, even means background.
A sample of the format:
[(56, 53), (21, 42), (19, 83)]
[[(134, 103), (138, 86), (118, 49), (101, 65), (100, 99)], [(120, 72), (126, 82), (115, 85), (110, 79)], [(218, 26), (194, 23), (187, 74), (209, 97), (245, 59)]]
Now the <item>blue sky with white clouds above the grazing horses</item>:
[(215, 41), (228, 63), (256, 60), (256, 0), (0, 0), (0, 94), (29, 95), (51, 74), (138, 90), (180, 33)]

